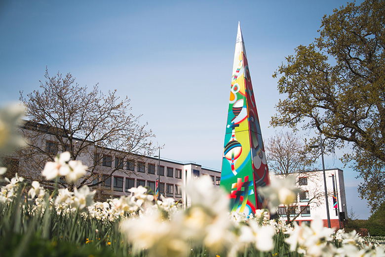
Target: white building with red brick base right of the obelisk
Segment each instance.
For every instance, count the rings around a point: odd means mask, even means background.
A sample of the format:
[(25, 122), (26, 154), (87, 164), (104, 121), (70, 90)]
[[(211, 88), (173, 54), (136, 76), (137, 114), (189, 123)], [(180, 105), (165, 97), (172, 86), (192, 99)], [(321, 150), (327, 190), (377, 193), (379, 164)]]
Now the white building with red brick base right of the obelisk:
[[(295, 220), (301, 224), (309, 223), (317, 217), (323, 220), (324, 226), (328, 226), (323, 171), (308, 171), (296, 175), (297, 185), (303, 191), (298, 195), (297, 202), (289, 208), (290, 219), (297, 216)], [(331, 227), (340, 228), (344, 226), (343, 222), (340, 224), (340, 220), (345, 220), (347, 213), (344, 172), (340, 169), (325, 170), (325, 177)], [(287, 218), (282, 206), (278, 207), (278, 214)]]

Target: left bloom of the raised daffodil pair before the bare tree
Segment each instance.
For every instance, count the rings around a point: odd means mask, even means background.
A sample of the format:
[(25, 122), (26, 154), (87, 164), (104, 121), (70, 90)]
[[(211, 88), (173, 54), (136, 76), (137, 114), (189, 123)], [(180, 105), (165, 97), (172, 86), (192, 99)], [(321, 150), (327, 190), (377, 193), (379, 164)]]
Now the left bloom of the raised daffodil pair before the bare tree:
[(68, 162), (71, 159), (69, 152), (61, 153), (57, 155), (54, 162), (47, 162), (44, 166), (44, 170), (41, 172), (47, 179), (53, 179), (57, 176), (66, 176), (70, 173), (70, 166)]

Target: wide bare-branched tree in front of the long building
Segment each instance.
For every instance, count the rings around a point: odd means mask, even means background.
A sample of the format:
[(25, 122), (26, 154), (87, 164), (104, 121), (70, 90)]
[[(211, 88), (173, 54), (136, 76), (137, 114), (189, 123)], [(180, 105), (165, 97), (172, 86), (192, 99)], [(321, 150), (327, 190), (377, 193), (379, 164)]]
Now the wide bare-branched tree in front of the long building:
[(46, 70), (44, 77), (40, 91), (26, 97), (20, 92), (29, 118), (21, 128), (28, 147), (18, 154), (25, 177), (49, 183), (40, 175), (44, 164), (69, 151), (72, 160), (89, 167), (76, 186), (98, 185), (117, 170), (132, 172), (122, 169), (123, 163), (140, 160), (156, 149), (151, 141), (154, 134), (147, 124), (139, 124), (141, 116), (130, 113), (127, 97), (120, 100), (116, 90), (105, 95), (98, 85), (81, 87), (70, 73), (51, 77)]

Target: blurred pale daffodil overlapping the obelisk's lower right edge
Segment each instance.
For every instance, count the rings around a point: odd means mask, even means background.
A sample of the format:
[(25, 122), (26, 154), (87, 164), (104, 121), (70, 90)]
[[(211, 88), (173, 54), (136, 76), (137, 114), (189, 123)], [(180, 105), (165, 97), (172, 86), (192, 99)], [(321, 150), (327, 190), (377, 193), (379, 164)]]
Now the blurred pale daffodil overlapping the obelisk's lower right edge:
[(295, 186), (296, 178), (288, 176), (284, 179), (270, 177), (270, 185), (259, 187), (258, 191), (266, 198), (270, 213), (275, 214), (280, 204), (289, 205), (293, 203), (301, 189)]

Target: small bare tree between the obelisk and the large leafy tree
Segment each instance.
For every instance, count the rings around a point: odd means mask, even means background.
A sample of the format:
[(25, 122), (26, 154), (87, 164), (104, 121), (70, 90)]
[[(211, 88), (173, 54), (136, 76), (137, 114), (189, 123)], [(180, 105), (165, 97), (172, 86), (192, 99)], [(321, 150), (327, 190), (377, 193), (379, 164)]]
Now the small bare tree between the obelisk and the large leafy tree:
[[(306, 182), (311, 181), (315, 184), (321, 184), (322, 181), (314, 172), (313, 164), (317, 156), (314, 151), (310, 151), (306, 141), (294, 132), (279, 132), (268, 138), (265, 142), (266, 158), (269, 170), (281, 178), (287, 176), (296, 176), (297, 185), (301, 187), (306, 178)], [(321, 204), (325, 193), (318, 188), (300, 193), (300, 201), (306, 199), (301, 205), (297, 201), (288, 206), (280, 207), (287, 216), (287, 223), (293, 222), (311, 203), (316, 206)], [(297, 196), (298, 198), (298, 196)], [(307, 204), (304, 206), (304, 204)], [(282, 215), (282, 210), (278, 214)]]

